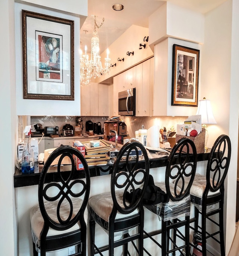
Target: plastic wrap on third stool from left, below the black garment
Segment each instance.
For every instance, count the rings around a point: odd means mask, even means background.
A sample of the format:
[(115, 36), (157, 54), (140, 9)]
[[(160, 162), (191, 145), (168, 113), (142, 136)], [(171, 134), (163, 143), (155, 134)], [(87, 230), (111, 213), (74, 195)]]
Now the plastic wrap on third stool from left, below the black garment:
[[(156, 186), (161, 188), (166, 193), (164, 182), (156, 182)], [(170, 190), (174, 190), (174, 184), (170, 183)], [(173, 193), (173, 192), (172, 192)], [(180, 217), (190, 216), (190, 195), (180, 201), (169, 200), (167, 203), (159, 203), (155, 205), (145, 205), (153, 213), (158, 215), (159, 220), (167, 221)]]

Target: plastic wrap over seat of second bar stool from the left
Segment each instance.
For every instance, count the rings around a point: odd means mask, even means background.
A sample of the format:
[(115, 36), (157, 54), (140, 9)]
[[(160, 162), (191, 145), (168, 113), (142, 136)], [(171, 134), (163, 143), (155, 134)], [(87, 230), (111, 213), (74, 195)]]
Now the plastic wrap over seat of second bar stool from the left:
[[(123, 192), (123, 190), (118, 190), (116, 193), (117, 202), (122, 208), (124, 208)], [(100, 226), (102, 226), (106, 233), (109, 234), (109, 216), (113, 209), (113, 199), (111, 196), (111, 192), (105, 192), (92, 196), (88, 201), (88, 205), (90, 215)], [(132, 213), (129, 214), (122, 214), (118, 212), (115, 219), (125, 219), (126, 217), (133, 216), (138, 212), (138, 209), (134, 210)], [(106, 222), (102, 222), (102, 219), (105, 220)], [(124, 231), (115, 232), (114, 236), (116, 237), (118, 235), (126, 234), (132, 231), (133, 229), (134, 228), (130, 230), (127, 229)]]

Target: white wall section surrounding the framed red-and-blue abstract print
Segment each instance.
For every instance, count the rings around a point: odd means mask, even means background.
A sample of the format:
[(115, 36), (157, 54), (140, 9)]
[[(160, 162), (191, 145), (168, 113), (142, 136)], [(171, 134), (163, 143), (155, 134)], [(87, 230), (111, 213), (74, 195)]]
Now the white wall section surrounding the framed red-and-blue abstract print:
[[(74, 88), (75, 100), (26, 100), (23, 99), (23, 73), (22, 73), (22, 13), (21, 10), (43, 13), (46, 15), (57, 16), (74, 20)], [(66, 15), (59, 12), (29, 6), (21, 3), (15, 4), (15, 36), (16, 36), (16, 91), (17, 91), (17, 115), (30, 116), (77, 116), (80, 115), (80, 18)]]

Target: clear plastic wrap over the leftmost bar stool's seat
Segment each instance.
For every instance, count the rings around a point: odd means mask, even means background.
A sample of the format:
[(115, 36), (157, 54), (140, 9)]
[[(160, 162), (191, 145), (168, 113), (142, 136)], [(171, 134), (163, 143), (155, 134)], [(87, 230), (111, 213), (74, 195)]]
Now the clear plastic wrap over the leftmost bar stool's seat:
[[(81, 208), (83, 200), (80, 198), (71, 198), (72, 204), (73, 204), (73, 215), (72, 218), (78, 213), (78, 211)], [(58, 205), (58, 201), (55, 202), (46, 202), (45, 203), (45, 208), (50, 216), (51, 219), (53, 219), (55, 222), (58, 222), (57, 216), (56, 216), (56, 207)], [(67, 200), (63, 201), (61, 208), (60, 208), (60, 217), (62, 219), (67, 219), (69, 216), (69, 203)], [(84, 220), (87, 224), (87, 219), (88, 219), (88, 212), (87, 209), (84, 212)], [(39, 208), (39, 205), (35, 205), (30, 212), (30, 220), (31, 220), (31, 234), (32, 234), (32, 240), (36, 245), (37, 251), (39, 251), (38, 247), (40, 247), (40, 235), (41, 231), (43, 229), (44, 225), (44, 220), (43, 217), (41, 216), (41, 211)], [(71, 231), (75, 231), (77, 229), (80, 229), (80, 222), (77, 222), (72, 228), (66, 229), (63, 231), (58, 231), (52, 228), (49, 228), (49, 231), (47, 233), (47, 237), (53, 236), (53, 235), (60, 235), (64, 233), (68, 233)]]

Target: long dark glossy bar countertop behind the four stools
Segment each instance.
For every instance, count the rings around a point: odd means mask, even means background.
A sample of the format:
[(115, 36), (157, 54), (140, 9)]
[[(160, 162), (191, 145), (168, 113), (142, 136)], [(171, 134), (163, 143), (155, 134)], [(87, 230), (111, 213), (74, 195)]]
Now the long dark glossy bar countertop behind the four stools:
[[(210, 149), (208, 149), (207, 153), (198, 154), (197, 161), (198, 162), (199, 161), (207, 161), (208, 157), (209, 157), (209, 152), (210, 152)], [(149, 166), (150, 166), (150, 168), (165, 167), (167, 164), (167, 159), (168, 159), (168, 156), (164, 156), (161, 158), (149, 159), (149, 164), (150, 164)], [(143, 161), (142, 161), (142, 164), (143, 164)], [(112, 170), (112, 166), (113, 166), (113, 164), (90, 166), (89, 167), (90, 176), (96, 177), (96, 176), (110, 174), (111, 170)], [(37, 167), (38, 167), (37, 172), (31, 173), (31, 174), (22, 174), (21, 170), (16, 168), (14, 176), (13, 176), (14, 188), (38, 185), (43, 165), (38, 165)], [(67, 175), (67, 173), (69, 173), (69, 171), (65, 171), (65, 173)], [(80, 174), (81, 174), (80, 171), (76, 171), (73, 179), (80, 178)], [(54, 172), (48, 173), (46, 183), (52, 182), (52, 181), (57, 181), (56, 175)]]

